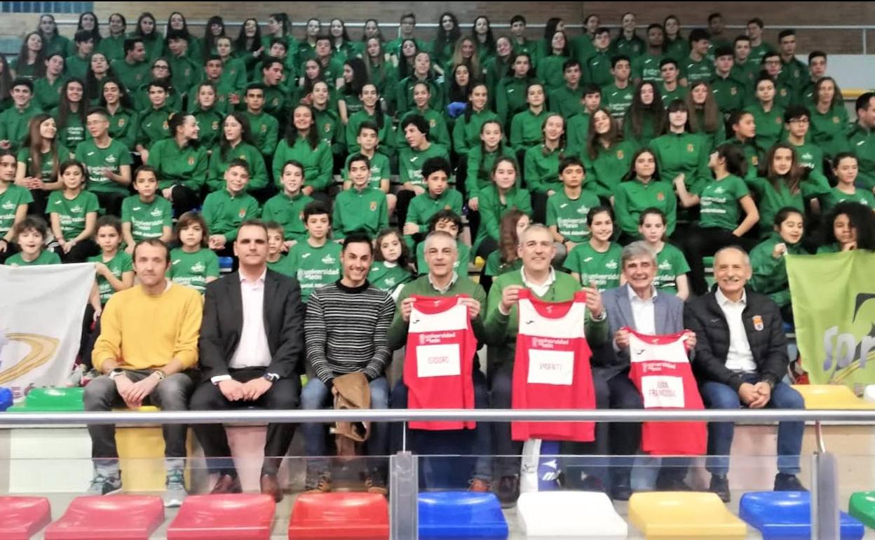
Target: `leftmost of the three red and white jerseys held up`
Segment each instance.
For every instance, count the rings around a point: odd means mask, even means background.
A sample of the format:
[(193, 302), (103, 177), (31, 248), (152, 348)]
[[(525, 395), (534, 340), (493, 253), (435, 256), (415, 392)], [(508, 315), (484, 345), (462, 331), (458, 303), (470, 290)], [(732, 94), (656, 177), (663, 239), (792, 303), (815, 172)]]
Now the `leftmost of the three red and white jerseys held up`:
[[(473, 409), (473, 358), (477, 339), (460, 295), (413, 295), (404, 384), (409, 409)], [(410, 422), (416, 430), (473, 429), (472, 421)]]

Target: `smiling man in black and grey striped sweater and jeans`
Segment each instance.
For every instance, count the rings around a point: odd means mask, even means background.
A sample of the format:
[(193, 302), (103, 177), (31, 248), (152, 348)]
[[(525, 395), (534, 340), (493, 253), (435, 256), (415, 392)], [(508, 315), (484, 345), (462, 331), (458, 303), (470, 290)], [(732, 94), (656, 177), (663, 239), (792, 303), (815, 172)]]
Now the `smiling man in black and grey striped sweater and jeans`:
[[(364, 373), (371, 389), (371, 408), (388, 407), (385, 370), (391, 354), (386, 342), (395, 303), (388, 292), (367, 283), (373, 260), (371, 239), (364, 233), (347, 235), (340, 252), (343, 277), (318, 288), (307, 303), (304, 335), (307, 361), (316, 376), (301, 392), (304, 410), (321, 409), (331, 403), (336, 375)], [(331, 490), (330, 467), (325, 456), (325, 429), (304, 424), (304, 453), (308, 457), (304, 490)], [(374, 423), (367, 441), (367, 454), (385, 456), (388, 425)], [(385, 463), (370, 459), (367, 491), (386, 494)]]

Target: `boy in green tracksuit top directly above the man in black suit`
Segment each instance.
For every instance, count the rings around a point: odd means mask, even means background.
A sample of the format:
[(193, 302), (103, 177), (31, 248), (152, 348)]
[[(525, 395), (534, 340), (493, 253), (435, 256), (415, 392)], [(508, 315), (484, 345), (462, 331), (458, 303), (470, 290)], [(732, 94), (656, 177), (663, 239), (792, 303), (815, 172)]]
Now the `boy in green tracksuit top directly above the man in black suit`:
[(202, 214), (210, 231), (210, 249), (227, 249), (228, 242), (236, 240), (241, 223), (258, 217), (258, 201), (246, 193), (248, 181), (249, 165), (235, 159), (225, 171), (226, 188), (210, 193), (204, 200)]

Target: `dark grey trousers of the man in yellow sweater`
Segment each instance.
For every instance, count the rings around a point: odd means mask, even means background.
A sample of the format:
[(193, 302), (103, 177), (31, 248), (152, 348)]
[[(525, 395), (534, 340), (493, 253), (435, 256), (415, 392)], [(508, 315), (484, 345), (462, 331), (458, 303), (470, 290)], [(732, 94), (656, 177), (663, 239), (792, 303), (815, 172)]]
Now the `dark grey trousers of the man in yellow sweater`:
[[(152, 374), (152, 369), (129, 369), (125, 375), (132, 382), (142, 381)], [(167, 375), (164, 381), (152, 390), (151, 395), (143, 400), (144, 405), (155, 405), (161, 410), (188, 410), (188, 397), (194, 389), (194, 380), (188, 373)], [(108, 375), (97, 377), (85, 387), (85, 410), (105, 411), (114, 407), (124, 407), (124, 400), (116, 390), (116, 382)], [(186, 458), (186, 424), (162, 424), (161, 430), (165, 438), (165, 457)], [(118, 459), (116, 450), (116, 426), (113, 424), (89, 425), (88, 435), (91, 436), (91, 457), (97, 461), (115, 461)]]

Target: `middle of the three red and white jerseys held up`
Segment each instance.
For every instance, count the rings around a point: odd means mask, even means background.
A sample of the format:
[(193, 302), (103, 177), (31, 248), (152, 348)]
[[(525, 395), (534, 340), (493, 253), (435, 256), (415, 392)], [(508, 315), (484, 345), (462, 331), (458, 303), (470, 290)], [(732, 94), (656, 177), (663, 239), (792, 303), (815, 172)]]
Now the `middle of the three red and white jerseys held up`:
[[(569, 302), (544, 302), (520, 291), (520, 327), (511, 403), (514, 409), (595, 409), (589, 344), (584, 335), (586, 293)], [(514, 440), (591, 441), (592, 422), (514, 422)]]

